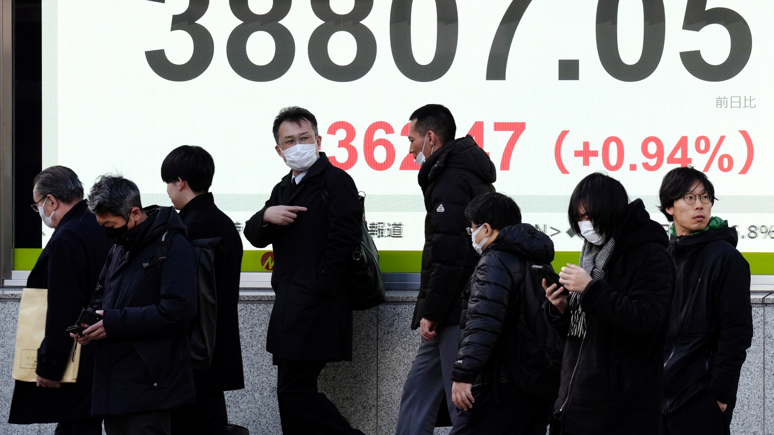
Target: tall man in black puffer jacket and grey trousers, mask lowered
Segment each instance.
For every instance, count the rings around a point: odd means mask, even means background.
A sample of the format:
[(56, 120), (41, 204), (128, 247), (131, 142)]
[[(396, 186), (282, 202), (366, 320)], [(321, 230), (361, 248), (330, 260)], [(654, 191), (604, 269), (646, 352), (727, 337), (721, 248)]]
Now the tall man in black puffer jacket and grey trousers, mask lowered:
[(495, 165), (470, 135), (452, 139), (457, 125), (444, 106), (427, 104), (409, 119), (409, 152), (422, 166), (419, 183), (427, 211), (411, 328), (420, 328), (424, 340), (403, 388), (396, 433), (420, 435), (433, 433), (437, 420), (447, 420), (443, 408), (450, 423), (457, 414), (451, 402), (451, 368), (457, 357), (461, 295), (478, 261), (465, 233), (469, 221), (464, 211), (474, 197), (495, 191)]

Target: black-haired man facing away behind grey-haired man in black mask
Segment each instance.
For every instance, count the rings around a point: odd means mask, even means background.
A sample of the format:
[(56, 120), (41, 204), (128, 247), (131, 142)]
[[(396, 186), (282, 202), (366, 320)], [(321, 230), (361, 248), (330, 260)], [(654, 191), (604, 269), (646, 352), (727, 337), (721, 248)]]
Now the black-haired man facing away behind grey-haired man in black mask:
[(217, 327), (209, 368), (194, 369), (196, 406), (173, 413), (172, 433), (226, 435), (228, 414), (223, 392), (245, 388), (239, 342), (239, 276), (242, 245), (234, 221), (215, 205), (211, 193), (215, 163), (198, 146), (174, 149), (161, 165), (161, 177), (173, 206), (188, 228), (189, 241), (222, 238), (224, 250), (215, 253)]

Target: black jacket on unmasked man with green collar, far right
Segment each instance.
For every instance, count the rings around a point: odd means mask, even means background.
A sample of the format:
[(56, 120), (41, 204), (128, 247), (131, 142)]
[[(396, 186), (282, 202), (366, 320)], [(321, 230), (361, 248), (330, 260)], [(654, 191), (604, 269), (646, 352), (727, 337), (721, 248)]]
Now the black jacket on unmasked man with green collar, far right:
[(673, 237), (676, 279), (664, 355), (663, 413), (707, 389), (735, 403), (752, 343), (750, 265), (736, 250), (735, 228)]

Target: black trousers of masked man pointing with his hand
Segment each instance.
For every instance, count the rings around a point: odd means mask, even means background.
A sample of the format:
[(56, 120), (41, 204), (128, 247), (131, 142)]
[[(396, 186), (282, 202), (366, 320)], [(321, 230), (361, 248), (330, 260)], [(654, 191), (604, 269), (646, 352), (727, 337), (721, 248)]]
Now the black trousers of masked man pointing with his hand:
[(277, 402), (284, 435), (363, 435), (317, 391), (325, 361), (276, 360)]

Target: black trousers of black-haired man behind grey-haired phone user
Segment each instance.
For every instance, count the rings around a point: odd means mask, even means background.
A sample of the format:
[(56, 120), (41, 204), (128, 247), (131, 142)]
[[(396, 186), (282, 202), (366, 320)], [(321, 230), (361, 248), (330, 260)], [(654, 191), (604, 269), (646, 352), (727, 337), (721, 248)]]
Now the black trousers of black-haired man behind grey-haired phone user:
[(196, 405), (172, 411), (172, 435), (228, 435), (226, 398), (222, 391), (196, 390)]

